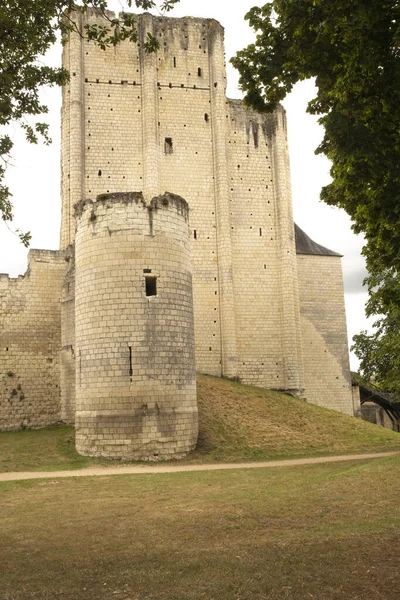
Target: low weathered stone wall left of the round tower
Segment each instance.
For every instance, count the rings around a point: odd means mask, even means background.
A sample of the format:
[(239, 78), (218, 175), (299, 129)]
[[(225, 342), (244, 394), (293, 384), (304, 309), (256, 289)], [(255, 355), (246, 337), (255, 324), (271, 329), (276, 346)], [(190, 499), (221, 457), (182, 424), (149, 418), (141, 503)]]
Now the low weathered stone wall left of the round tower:
[(0, 275), (0, 430), (60, 420), (63, 254), (31, 250), (17, 279)]

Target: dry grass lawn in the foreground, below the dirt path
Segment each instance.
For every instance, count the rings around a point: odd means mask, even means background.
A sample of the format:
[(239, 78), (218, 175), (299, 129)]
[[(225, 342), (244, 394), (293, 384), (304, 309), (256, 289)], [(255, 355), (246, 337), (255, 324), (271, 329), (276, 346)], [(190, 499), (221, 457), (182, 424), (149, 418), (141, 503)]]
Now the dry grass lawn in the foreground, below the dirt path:
[(0, 484), (1, 600), (395, 600), (400, 459)]

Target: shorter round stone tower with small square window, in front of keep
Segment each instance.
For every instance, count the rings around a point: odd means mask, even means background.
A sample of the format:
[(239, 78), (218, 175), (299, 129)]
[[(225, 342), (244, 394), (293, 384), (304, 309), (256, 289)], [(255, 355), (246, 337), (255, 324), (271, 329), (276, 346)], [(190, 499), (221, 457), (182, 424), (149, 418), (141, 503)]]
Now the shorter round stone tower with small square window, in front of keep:
[(188, 205), (165, 193), (76, 205), (76, 447), (178, 458), (198, 433)]

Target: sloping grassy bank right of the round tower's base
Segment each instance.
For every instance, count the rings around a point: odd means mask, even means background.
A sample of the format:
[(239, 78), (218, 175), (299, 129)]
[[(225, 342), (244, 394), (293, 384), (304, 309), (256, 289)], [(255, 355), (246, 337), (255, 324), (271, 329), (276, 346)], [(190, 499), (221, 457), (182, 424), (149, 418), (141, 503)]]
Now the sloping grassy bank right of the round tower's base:
[(199, 444), (189, 458), (277, 457), (400, 450), (400, 434), (286, 394), (199, 375)]

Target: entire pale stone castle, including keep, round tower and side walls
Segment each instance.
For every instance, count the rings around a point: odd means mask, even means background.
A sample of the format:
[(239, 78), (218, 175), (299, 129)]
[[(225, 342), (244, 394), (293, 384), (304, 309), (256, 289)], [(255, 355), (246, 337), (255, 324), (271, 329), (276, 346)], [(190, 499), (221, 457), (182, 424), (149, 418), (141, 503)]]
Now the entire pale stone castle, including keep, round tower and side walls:
[[(103, 17), (77, 16), (81, 34), (88, 23)], [(137, 28), (137, 44), (103, 51), (75, 33), (64, 48), (61, 250), (46, 267), (61, 331), (55, 325), (45, 349), (35, 306), (20, 302), (35, 269), (17, 285), (0, 281), (2, 372), (12, 363), (22, 381), (13, 336), (28, 319), (43, 341), (38, 355), (59, 365), (54, 414), (76, 414), (81, 452), (184, 453), (197, 431), (190, 287), (198, 371), (353, 414), (340, 255), (293, 223), (284, 110), (259, 115), (226, 98), (218, 22), (143, 14)], [(148, 33), (160, 42), (152, 54)], [(153, 298), (146, 275), (157, 278)], [(10, 318), (14, 294), (20, 309)], [(163, 318), (171, 306), (174, 318)], [(165, 347), (173, 339), (184, 348), (178, 362)], [(14, 418), (3, 380), (0, 427), (15, 428), (24, 404)], [(33, 380), (24, 380), (26, 399), (40, 387)], [(40, 424), (54, 422), (50, 414)]]

